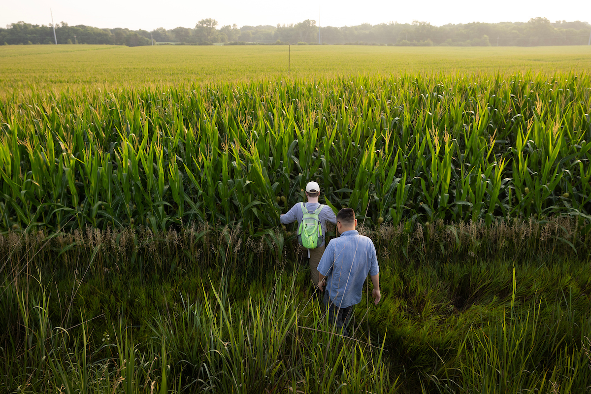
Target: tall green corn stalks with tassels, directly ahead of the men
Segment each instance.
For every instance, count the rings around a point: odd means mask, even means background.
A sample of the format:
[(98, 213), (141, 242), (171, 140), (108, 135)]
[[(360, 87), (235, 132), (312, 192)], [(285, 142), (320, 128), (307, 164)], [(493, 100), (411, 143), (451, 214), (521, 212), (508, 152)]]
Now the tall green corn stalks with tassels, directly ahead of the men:
[(0, 230), (262, 235), (316, 180), (369, 227), (571, 216), (587, 232), (590, 86), (431, 73), (14, 94)]

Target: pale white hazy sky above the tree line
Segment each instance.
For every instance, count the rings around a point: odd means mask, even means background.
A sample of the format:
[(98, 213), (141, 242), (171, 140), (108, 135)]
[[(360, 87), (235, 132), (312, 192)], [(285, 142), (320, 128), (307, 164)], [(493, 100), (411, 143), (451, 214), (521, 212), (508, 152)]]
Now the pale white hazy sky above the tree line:
[[(322, 26), (352, 26), (413, 20), (432, 25), (469, 22), (591, 21), (591, 4), (582, 0), (0, 0), (0, 26), (18, 21), (48, 25), (50, 8), (56, 23), (131, 30), (194, 27), (213, 18), (223, 25), (277, 25), (314, 19)], [(585, 11), (587, 10), (587, 11)]]

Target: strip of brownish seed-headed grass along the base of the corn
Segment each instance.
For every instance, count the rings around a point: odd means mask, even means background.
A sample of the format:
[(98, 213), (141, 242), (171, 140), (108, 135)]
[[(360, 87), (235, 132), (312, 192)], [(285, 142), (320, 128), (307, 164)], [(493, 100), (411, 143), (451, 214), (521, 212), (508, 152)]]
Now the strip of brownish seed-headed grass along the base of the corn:
[[(591, 234), (583, 233), (574, 218), (550, 218), (544, 222), (499, 220), (457, 225), (443, 221), (417, 224), (382, 224), (377, 229), (359, 226), (372, 239), (379, 258), (409, 263), (469, 262), (506, 259), (544, 262), (546, 258), (577, 258), (591, 255)], [(334, 236), (334, 227), (329, 235)], [(210, 226), (181, 227), (167, 231), (137, 226), (133, 229), (99, 230), (46, 234), (9, 231), (0, 234), (0, 255), (5, 259), (0, 273), (33, 275), (39, 265), (44, 272), (70, 275), (80, 280), (92, 277), (112, 284), (113, 275), (124, 274), (141, 280), (146, 275), (167, 276), (199, 269), (225, 269), (252, 278), (268, 269), (293, 266), (302, 258), (296, 236), (278, 227), (259, 237), (239, 228)], [(30, 264), (27, 262), (35, 262)], [(42, 263), (39, 263), (42, 262)]]

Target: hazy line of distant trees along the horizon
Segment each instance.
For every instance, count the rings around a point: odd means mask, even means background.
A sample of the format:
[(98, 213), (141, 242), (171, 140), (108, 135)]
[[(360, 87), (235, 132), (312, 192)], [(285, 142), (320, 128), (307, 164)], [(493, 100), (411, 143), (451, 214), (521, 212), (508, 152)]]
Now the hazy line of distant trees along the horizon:
[[(376, 44), (376, 45), (454, 45), (454, 46), (537, 46), (586, 45), (591, 25), (588, 22), (550, 22), (532, 18), (528, 22), (447, 24), (433, 26), (428, 22), (412, 24), (382, 23), (378, 25), (321, 27), (306, 19), (290, 25), (242, 26), (236, 24), (217, 28), (212, 18), (201, 19), (194, 28), (163, 27), (152, 31), (125, 28), (100, 29), (85, 25), (56, 24), (58, 44), (150, 45), (157, 43), (309, 43), (309, 44)], [(319, 40), (320, 34), (320, 40)], [(0, 44), (53, 44), (53, 30), (46, 25), (17, 22), (0, 28)]]

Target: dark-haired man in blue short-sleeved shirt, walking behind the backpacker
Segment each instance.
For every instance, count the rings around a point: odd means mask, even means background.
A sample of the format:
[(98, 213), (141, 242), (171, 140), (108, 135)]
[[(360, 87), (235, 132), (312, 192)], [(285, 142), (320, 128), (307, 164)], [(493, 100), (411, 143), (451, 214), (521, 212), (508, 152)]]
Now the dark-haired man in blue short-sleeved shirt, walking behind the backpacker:
[(355, 212), (350, 208), (340, 210), (336, 216), (340, 236), (330, 240), (318, 264), (318, 286), (324, 291), (329, 321), (332, 323), (335, 320), (336, 328), (342, 328), (345, 336), (349, 336), (347, 325), (353, 314), (353, 307), (361, 301), (361, 292), (368, 273), (374, 284), (374, 304), (377, 305), (381, 298), (374, 243), (368, 237), (359, 235), (355, 230), (356, 226)]

